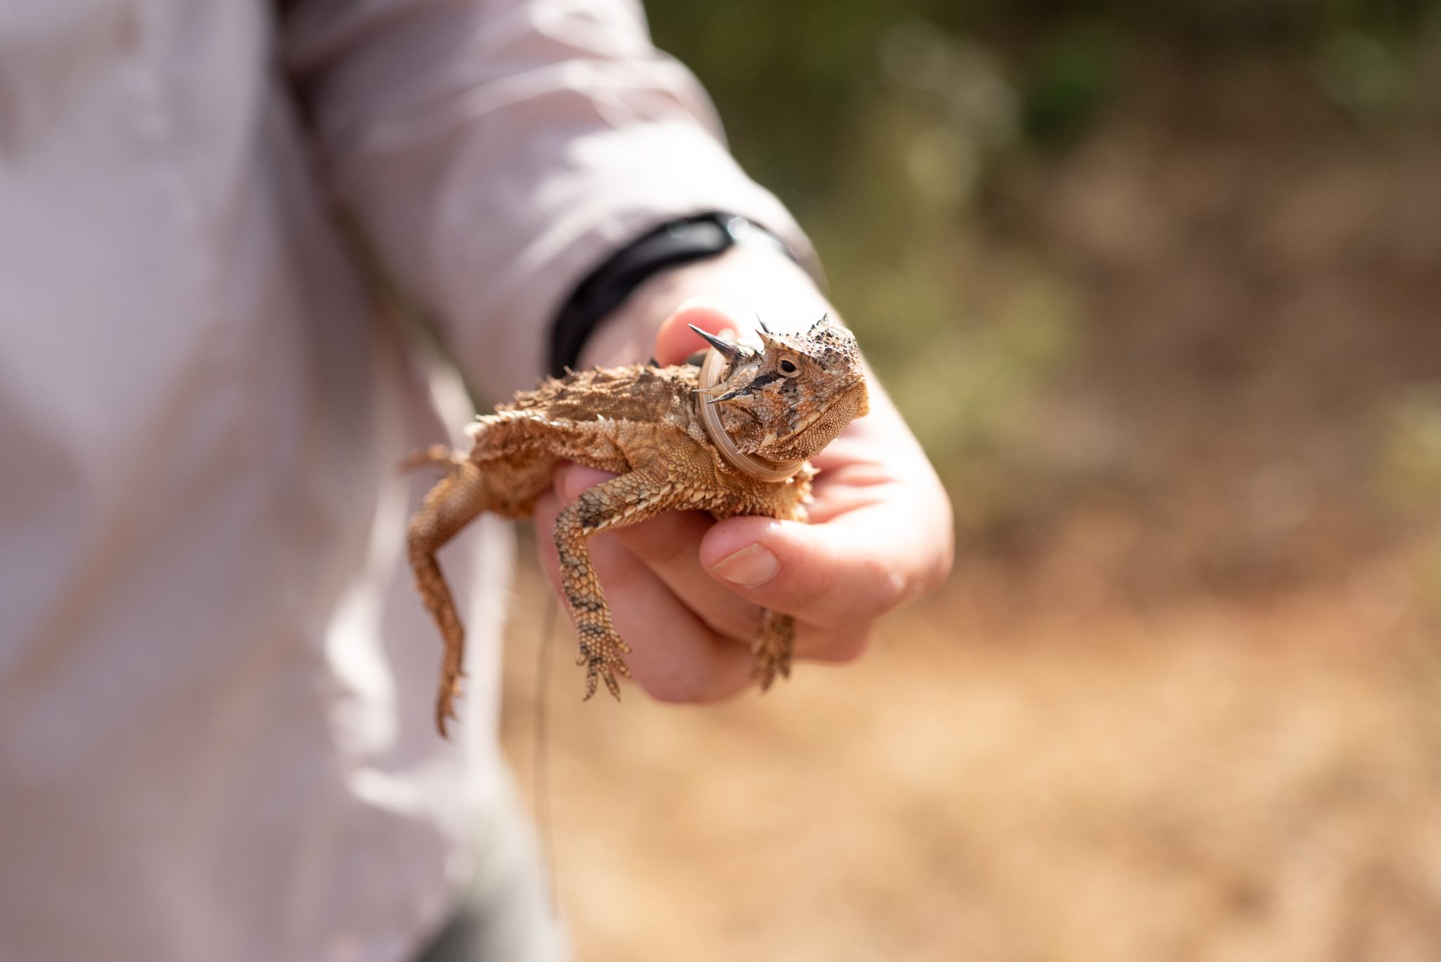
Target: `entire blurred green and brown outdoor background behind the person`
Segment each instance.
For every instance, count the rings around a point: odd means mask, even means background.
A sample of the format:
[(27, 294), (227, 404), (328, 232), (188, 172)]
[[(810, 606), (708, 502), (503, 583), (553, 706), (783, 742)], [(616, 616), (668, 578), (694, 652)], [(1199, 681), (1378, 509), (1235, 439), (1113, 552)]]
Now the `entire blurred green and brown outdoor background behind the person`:
[(1438, 958), (1438, 4), (648, 9), (960, 554), (860, 663), (706, 710), (581, 705), (559, 629), (542, 682), (523, 578), (579, 958)]

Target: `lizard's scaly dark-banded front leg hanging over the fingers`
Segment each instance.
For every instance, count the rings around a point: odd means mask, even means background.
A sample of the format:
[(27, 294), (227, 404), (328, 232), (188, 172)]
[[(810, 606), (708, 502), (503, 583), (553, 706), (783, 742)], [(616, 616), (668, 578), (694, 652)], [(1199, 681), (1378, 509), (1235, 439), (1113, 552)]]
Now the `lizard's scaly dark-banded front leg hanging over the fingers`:
[(621, 658), (630, 652), (630, 646), (611, 622), (611, 610), (585, 541), (608, 528), (654, 518), (680, 503), (670, 482), (644, 472), (631, 472), (581, 492), (555, 519), (561, 590), (579, 636), (581, 656), (576, 663), (586, 666), (585, 698), (595, 694), (598, 681), (604, 681), (605, 688), (618, 700), (621, 687), (615, 675), (630, 675)]

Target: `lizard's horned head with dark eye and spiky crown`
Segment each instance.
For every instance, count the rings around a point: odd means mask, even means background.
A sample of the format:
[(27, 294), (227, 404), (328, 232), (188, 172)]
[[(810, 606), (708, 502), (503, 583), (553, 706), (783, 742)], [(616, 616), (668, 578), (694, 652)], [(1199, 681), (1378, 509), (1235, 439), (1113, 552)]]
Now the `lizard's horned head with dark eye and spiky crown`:
[(829, 316), (803, 335), (762, 326), (758, 349), (695, 330), (728, 361), (725, 378), (702, 401), (719, 408), (720, 425), (746, 454), (814, 457), (869, 410), (856, 337)]

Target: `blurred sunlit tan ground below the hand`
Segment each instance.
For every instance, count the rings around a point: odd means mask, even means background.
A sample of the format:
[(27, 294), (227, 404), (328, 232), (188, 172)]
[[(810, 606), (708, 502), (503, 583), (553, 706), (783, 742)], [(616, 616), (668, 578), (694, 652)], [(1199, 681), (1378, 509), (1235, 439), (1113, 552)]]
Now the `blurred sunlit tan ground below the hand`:
[[(719, 708), (582, 705), (558, 633), (579, 958), (1435, 958), (1441, 672), (1405, 600), (997, 625), (989, 581)], [(539, 625), (516, 629), (506, 744), (533, 786)]]

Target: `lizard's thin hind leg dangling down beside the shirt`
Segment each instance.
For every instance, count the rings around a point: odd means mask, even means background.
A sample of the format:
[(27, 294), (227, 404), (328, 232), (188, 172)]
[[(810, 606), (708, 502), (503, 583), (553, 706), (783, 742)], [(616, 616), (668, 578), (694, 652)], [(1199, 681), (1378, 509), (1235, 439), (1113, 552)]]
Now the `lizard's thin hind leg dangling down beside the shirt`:
[[(428, 449), (428, 453), (431, 450), (435, 449)], [(419, 463), (434, 460), (440, 459), (427, 457)], [(451, 597), (450, 586), (445, 584), (445, 575), (441, 574), (435, 552), (486, 511), (490, 500), (484, 477), (476, 464), (450, 463), (450, 473), (425, 496), (425, 502), (411, 518), (406, 529), (406, 554), (415, 571), (415, 587), (445, 639), (440, 692), (435, 700), (435, 727), (441, 737), (448, 737), (445, 721), (455, 717), (454, 702), (460, 695), (461, 665), (465, 656), (465, 629), (460, 623), (455, 600)]]

